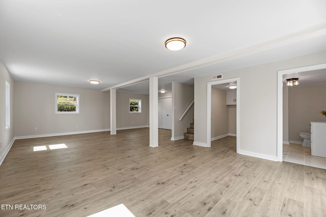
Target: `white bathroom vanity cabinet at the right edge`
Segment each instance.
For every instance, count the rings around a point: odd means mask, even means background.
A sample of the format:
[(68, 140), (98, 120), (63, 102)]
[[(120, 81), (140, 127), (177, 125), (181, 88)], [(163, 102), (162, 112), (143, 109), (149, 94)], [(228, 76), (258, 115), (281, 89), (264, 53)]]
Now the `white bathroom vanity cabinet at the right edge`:
[(310, 122), (311, 155), (326, 158), (326, 122)]

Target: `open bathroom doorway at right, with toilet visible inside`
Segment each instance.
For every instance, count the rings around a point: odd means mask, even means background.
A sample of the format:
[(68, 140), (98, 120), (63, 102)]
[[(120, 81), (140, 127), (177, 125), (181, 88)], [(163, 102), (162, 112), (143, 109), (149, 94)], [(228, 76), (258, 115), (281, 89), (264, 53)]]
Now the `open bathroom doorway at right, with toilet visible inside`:
[[(293, 78), (294, 80), (298, 78), (299, 84), (287, 86), (287, 81)], [(280, 161), (326, 169), (326, 156), (316, 157), (310, 147), (310, 123), (326, 121), (326, 118), (319, 113), (321, 110), (326, 110), (326, 96), (322, 94), (323, 92), (326, 92), (326, 64), (279, 71), (278, 157), (281, 157)]]

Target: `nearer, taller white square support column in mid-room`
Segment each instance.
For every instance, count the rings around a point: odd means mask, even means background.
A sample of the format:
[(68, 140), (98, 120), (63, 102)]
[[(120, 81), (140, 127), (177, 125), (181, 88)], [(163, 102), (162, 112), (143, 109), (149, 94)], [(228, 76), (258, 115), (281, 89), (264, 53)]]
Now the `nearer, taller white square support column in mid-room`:
[(149, 146), (158, 146), (158, 78), (149, 78)]

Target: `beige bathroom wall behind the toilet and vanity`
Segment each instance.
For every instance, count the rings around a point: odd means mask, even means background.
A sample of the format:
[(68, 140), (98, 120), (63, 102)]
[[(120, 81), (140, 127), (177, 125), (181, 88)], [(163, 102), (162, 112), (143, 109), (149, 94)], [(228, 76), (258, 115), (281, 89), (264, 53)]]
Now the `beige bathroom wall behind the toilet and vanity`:
[(310, 132), (310, 121), (326, 121), (326, 84), (289, 87), (289, 140), (298, 143), (300, 132)]

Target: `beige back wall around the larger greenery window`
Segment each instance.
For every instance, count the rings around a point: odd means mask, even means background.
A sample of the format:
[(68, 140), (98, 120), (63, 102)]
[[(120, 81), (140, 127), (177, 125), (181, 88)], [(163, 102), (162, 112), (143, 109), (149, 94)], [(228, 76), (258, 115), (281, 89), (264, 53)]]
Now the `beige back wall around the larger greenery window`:
[[(79, 94), (79, 114), (55, 114), (55, 93)], [(15, 82), (15, 136), (61, 134), (110, 128), (110, 92)], [(77, 127), (78, 126), (78, 127)], [(37, 128), (37, 131), (35, 131)]]

